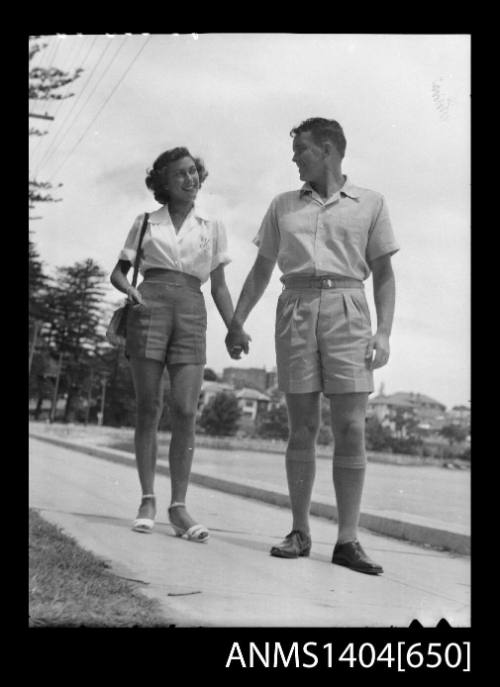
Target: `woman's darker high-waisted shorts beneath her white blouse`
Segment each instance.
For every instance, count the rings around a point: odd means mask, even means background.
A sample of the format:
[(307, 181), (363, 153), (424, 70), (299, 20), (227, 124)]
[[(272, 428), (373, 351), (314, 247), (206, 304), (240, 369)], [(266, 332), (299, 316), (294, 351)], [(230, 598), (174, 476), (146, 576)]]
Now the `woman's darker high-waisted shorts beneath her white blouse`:
[(127, 317), (128, 358), (206, 364), (207, 311), (200, 284), (182, 272), (146, 272), (138, 287), (143, 304), (129, 308)]

